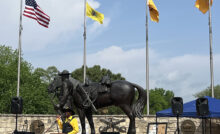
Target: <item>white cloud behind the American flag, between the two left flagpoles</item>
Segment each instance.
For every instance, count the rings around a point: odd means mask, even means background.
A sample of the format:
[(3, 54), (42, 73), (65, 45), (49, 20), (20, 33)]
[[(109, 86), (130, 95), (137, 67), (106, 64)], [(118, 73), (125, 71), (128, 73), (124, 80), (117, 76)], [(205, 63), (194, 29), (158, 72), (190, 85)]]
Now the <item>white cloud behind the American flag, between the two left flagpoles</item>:
[(38, 25), (35, 21), (24, 18), (24, 47), (27, 51), (44, 49), (61, 40), (70, 40), (79, 32), (83, 24), (83, 1), (39, 0), (38, 4), (50, 18), (49, 28)]

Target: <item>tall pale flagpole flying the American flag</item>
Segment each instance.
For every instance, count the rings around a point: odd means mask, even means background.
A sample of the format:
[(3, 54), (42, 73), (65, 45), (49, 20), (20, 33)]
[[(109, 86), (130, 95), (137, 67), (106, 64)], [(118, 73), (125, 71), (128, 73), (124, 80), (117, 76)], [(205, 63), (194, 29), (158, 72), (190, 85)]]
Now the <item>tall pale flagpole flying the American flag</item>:
[(19, 41), (18, 41), (18, 83), (17, 83), (17, 97), (19, 97), (20, 88), (20, 70), (21, 70), (21, 34), (22, 34), (22, 0), (20, 5), (20, 22), (19, 22)]

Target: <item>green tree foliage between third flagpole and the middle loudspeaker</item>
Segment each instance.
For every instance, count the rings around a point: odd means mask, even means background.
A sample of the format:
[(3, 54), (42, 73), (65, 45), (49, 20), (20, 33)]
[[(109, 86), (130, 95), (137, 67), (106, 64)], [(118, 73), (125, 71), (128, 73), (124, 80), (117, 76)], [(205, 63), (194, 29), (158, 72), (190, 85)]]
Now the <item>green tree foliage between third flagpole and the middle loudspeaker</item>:
[(150, 114), (171, 107), (171, 99), (174, 97), (173, 91), (155, 88), (150, 90)]

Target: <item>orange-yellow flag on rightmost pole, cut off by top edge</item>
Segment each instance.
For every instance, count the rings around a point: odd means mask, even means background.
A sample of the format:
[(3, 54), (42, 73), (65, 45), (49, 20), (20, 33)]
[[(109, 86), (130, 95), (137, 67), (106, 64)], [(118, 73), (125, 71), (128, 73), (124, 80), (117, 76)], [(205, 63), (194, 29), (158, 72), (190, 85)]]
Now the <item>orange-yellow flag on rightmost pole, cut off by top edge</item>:
[[(211, 5), (212, 2), (213, 0), (211, 0)], [(209, 10), (209, 0), (196, 0), (195, 7), (205, 14)]]

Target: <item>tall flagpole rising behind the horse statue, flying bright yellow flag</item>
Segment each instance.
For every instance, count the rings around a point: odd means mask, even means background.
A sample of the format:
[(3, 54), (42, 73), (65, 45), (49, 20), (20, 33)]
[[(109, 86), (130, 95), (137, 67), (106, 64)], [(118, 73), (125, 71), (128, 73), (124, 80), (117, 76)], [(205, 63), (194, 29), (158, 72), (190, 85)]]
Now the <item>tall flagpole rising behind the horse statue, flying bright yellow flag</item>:
[(83, 82), (86, 80), (86, 0), (84, 0), (84, 55), (83, 55)]

